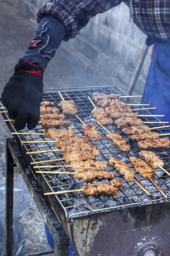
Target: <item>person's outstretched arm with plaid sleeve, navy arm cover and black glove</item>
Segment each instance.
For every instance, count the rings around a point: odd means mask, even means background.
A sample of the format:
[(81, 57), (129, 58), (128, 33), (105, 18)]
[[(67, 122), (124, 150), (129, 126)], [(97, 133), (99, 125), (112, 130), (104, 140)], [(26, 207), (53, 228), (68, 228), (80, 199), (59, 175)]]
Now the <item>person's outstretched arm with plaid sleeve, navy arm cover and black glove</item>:
[(15, 128), (33, 129), (40, 118), (43, 98), (43, 72), (62, 40), (74, 38), (97, 13), (122, 0), (52, 0), (43, 3), (37, 13), (39, 25), (30, 46), (15, 66), (15, 73), (4, 87), (2, 102), (15, 119)]

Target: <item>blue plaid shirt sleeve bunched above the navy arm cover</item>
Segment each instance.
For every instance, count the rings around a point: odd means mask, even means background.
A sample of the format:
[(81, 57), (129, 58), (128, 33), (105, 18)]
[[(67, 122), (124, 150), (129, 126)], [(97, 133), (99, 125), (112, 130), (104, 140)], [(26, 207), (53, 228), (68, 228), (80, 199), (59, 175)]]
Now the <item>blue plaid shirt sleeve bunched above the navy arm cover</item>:
[(37, 12), (38, 23), (43, 15), (52, 15), (66, 29), (65, 41), (74, 38), (91, 17), (119, 5), (122, 0), (50, 0), (43, 3)]

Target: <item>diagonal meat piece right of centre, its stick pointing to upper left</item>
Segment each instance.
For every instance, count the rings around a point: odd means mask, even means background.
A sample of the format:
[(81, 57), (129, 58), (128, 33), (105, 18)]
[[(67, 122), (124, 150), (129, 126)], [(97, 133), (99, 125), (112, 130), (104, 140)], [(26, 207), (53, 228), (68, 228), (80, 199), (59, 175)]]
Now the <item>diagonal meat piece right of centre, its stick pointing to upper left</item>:
[(126, 144), (126, 140), (123, 139), (119, 133), (112, 131), (111, 134), (106, 134), (106, 138), (109, 140), (109, 142), (113, 146), (118, 147), (120, 150), (122, 151), (130, 150), (130, 145)]

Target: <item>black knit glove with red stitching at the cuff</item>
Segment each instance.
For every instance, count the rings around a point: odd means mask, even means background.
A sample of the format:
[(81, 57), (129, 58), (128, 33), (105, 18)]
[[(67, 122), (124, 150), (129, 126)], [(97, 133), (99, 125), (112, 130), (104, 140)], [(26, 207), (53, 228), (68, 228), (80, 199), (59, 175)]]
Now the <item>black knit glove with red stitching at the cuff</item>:
[(2, 93), (3, 105), (15, 119), (17, 130), (24, 129), (26, 123), (29, 130), (38, 124), (43, 95), (42, 70), (28, 61), (20, 61)]

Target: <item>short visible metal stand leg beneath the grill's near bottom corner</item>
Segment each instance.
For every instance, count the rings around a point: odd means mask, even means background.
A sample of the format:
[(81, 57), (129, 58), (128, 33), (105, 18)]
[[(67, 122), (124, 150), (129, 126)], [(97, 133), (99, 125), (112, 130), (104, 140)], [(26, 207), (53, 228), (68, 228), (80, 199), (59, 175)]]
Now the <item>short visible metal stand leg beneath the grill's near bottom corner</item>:
[(54, 239), (54, 256), (68, 256), (69, 255), (69, 238), (63, 241)]

